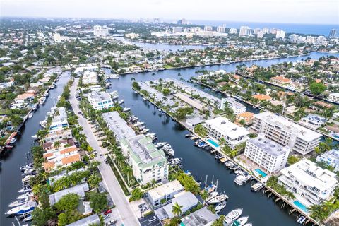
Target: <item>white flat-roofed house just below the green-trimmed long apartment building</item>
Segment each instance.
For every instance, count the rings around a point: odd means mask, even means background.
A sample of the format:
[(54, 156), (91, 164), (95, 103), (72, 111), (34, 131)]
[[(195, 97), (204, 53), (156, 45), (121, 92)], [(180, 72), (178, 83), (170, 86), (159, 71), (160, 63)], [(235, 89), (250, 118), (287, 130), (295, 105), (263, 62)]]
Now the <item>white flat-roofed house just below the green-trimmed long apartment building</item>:
[[(184, 187), (176, 179), (172, 182), (167, 182), (166, 184), (162, 184), (154, 189), (148, 190), (147, 198), (153, 207), (157, 207), (160, 206), (160, 204), (167, 203), (174, 198), (174, 195), (182, 191), (184, 191)], [(162, 203), (162, 200), (165, 201), (165, 203)]]

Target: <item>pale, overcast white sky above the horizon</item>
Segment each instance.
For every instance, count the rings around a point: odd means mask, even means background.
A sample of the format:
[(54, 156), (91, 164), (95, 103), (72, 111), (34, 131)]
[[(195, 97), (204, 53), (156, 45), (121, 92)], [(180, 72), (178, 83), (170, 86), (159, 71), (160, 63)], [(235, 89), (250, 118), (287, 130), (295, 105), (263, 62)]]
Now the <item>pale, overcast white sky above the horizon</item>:
[(338, 0), (0, 0), (0, 16), (339, 24)]

